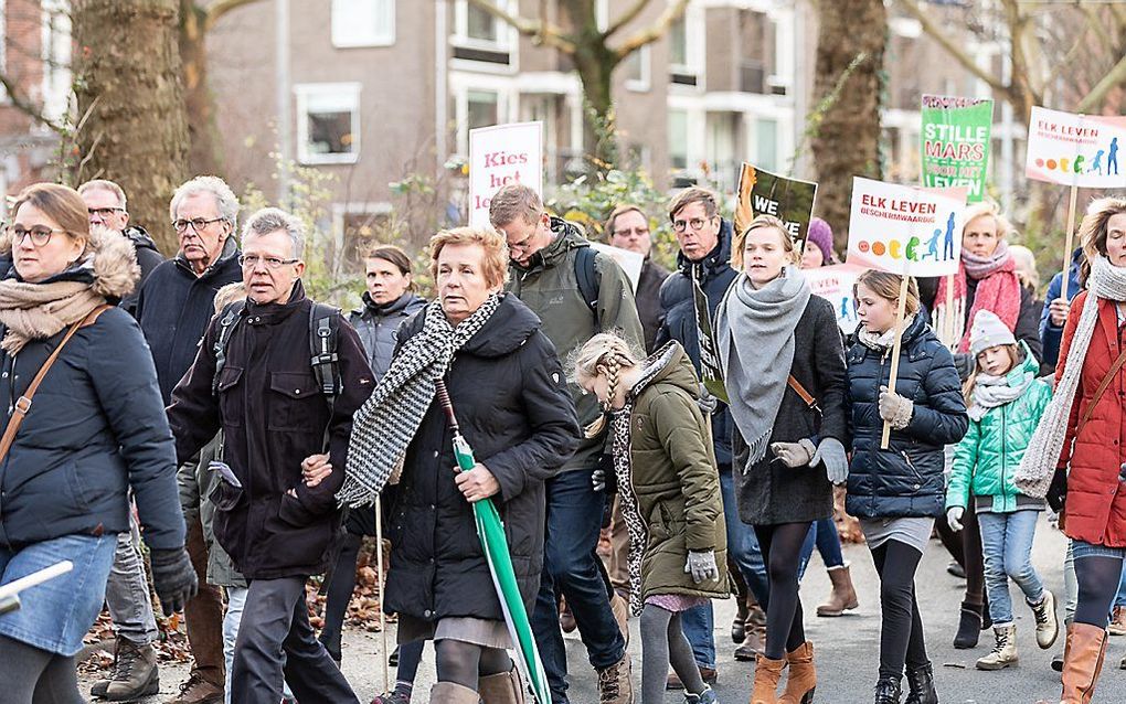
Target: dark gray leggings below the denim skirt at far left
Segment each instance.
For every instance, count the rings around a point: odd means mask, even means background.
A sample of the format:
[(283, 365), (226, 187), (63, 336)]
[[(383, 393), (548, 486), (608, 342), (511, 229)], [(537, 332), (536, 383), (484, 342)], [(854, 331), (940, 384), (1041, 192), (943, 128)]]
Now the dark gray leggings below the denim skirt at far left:
[(74, 658), (39, 650), (0, 635), (0, 701), (20, 704), (82, 704)]

